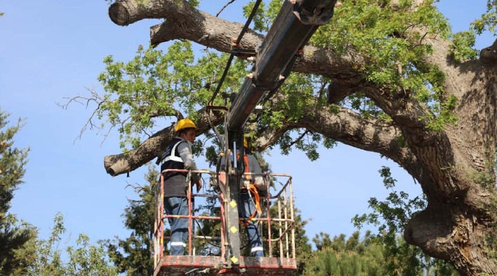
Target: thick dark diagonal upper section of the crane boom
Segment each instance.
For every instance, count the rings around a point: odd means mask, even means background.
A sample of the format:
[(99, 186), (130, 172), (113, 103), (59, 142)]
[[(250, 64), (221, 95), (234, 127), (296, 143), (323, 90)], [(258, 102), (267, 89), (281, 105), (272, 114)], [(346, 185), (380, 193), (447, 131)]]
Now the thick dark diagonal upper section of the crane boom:
[(243, 128), (264, 92), (284, 81), (286, 76), (283, 73), (298, 50), (303, 48), (319, 26), (333, 17), (336, 1), (284, 2), (262, 45), (256, 49), (252, 77), (246, 77), (228, 110), (228, 130), (239, 131)]

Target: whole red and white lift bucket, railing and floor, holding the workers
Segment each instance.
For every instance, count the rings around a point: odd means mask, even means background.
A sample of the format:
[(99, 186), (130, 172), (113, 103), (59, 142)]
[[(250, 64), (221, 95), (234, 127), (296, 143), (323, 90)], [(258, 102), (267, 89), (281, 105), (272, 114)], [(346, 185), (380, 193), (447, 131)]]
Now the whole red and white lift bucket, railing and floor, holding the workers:
[[(188, 215), (170, 216), (164, 213), (164, 170), (161, 174), (161, 184), (157, 187), (155, 224), (154, 224), (154, 276), (165, 275), (295, 275), (297, 263), (295, 260), (295, 220), (293, 214), (293, 190), (291, 186), (291, 175), (268, 173), (262, 174), (266, 179), (269, 191), (269, 183), (280, 183), (281, 187), (275, 189), (275, 194), (266, 193), (262, 197), (264, 210), (258, 218), (260, 221), (260, 234), (264, 244), (264, 255), (267, 257), (244, 257), (240, 256), (237, 266), (228, 259), (226, 250), (229, 241), (226, 238), (225, 212), (228, 202), (224, 201), (224, 195), (217, 193), (191, 193), (188, 187)], [(188, 170), (174, 170), (188, 172)], [(215, 178), (216, 172), (210, 170), (196, 170), (201, 175), (207, 174)], [(247, 173), (249, 175), (256, 175)], [(285, 179), (282, 181), (281, 179)], [(220, 216), (205, 216), (195, 214), (195, 198), (211, 198), (217, 201), (220, 208)], [(271, 206), (273, 213), (271, 216)], [(183, 256), (164, 255), (164, 221), (169, 217), (184, 217), (188, 219), (188, 248)], [(213, 220), (220, 224), (220, 235), (204, 236), (195, 233), (195, 224), (202, 221)], [(243, 231), (243, 230), (242, 230)], [(244, 233), (241, 233), (244, 235)], [(217, 241), (220, 248), (213, 255), (198, 255), (195, 248), (197, 240)]]

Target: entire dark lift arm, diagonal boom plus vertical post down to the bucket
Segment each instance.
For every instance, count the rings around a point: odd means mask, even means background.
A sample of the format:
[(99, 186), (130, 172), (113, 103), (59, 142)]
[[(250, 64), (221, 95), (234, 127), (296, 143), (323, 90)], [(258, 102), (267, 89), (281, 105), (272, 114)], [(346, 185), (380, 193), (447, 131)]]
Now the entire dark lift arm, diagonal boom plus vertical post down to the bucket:
[[(239, 266), (240, 227), (237, 210), (237, 198), (240, 193), (240, 181), (244, 174), (244, 125), (260, 101), (264, 92), (276, 90), (289, 75), (298, 53), (309, 41), (319, 26), (333, 17), (333, 8), (337, 0), (286, 0), (277, 14), (264, 41), (256, 50), (255, 65), (233, 99), (226, 115), (227, 146), (235, 162), (234, 177), (227, 177), (228, 190), (225, 202), (228, 250), (226, 259), (231, 260), (233, 268)], [(228, 159), (228, 158), (226, 158)], [(228, 174), (228, 172), (226, 171)], [(231, 174), (233, 176), (233, 173)], [(233, 181), (233, 179), (236, 179)]]

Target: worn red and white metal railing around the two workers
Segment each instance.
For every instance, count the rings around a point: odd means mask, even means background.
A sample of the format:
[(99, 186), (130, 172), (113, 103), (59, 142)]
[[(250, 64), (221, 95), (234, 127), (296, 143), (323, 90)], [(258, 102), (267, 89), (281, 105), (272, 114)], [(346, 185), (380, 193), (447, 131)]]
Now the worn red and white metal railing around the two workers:
[[(157, 185), (155, 190), (155, 223), (154, 223), (154, 235), (153, 235), (153, 247), (154, 247), (154, 267), (161, 266), (161, 260), (164, 256), (164, 219), (170, 217), (175, 218), (186, 218), (188, 219), (188, 255), (196, 255), (196, 248), (194, 244), (194, 239), (206, 239), (206, 240), (216, 240), (220, 241), (220, 252), (218, 256), (226, 257), (226, 233), (225, 233), (225, 221), (224, 221), (224, 210), (226, 210), (226, 205), (228, 202), (224, 201), (223, 193), (192, 193), (192, 187), (190, 181), (188, 181), (187, 188), (187, 199), (188, 199), (188, 215), (166, 215), (164, 213), (164, 173), (165, 172), (187, 172), (188, 179), (191, 173), (198, 173), (200, 175), (209, 175), (209, 177), (216, 178), (216, 172), (211, 170), (164, 170), (161, 173), (160, 184)], [(262, 241), (266, 244), (266, 248), (269, 250), (267, 257), (280, 257), (280, 258), (292, 258), (295, 259), (295, 219), (294, 219), (294, 208), (293, 208), (293, 189), (291, 184), (291, 175), (280, 174), (280, 173), (246, 173), (245, 175), (262, 175), (266, 184), (266, 191), (261, 197), (263, 212), (259, 218), (257, 218), (262, 226), (260, 228), (260, 235), (262, 236)], [(280, 179), (286, 179), (280, 181)], [(204, 179), (202, 177), (202, 179)], [(205, 181), (204, 181), (205, 183)], [(280, 184), (280, 187), (276, 186)], [(222, 184), (221, 184), (222, 185)], [(274, 195), (269, 193), (270, 189), (274, 190)], [(226, 190), (226, 187), (220, 189)], [(219, 201), (220, 216), (208, 216), (208, 215), (195, 215), (195, 197), (206, 197)], [(271, 208), (273, 208), (271, 210)], [(273, 212), (273, 214), (271, 213)], [(220, 235), (219, 236), (206, 236), (206, 235), (195, 235), (195, 224), (194, 221), (202, 220), (216, 220), (220, 221)], [(197, 222), (198, 224), (198, 222)], [(166, 238), (169, 239), (169, 238)], [(224, 259), (227, 262), (227, 259)]]

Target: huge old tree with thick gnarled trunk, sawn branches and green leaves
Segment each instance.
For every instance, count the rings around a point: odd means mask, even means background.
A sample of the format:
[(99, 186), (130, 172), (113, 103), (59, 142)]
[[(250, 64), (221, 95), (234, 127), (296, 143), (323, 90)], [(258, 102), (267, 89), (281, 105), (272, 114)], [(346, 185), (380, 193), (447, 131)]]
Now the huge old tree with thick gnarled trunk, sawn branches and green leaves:
[[(260, 8), (243, 48), (257, 48), (281, 2)], [(242, 25), (196, 4), (122, 0), (110, 6), (110, 19), (121, 26), (165, 19), (150, 28), (152, 46), (182, 41), (163, 56), (141, 48), (127, 64), (106, 59), (107, 71), (99, 77), (106, 95), (92, 95), (99, 103), (95, 114), (118, 126), (123, 146), (132, 146), (105, 157), (110, 175), (160, 155), (173, 128), (150, 132), (155, 117), (188, 114), (199, 134), (223, 123), (222, 114), (203, 107), (226, 62), (210, 49), (230, 52)], [(304, 47), (280, 91), (263, 97), (264, 113), (251, 120), (257, 149), (280, 144), (284, 152), (297, 147), (317, 158), (320, 141), (339, 141), (388, 157), (427, 197), (427, 207), (405, 229), (406, 241), (448, 260), (462, 275), (496, 275), (497, 42), (480, 55), (472, 48), (475, 34), (494, 32), (496, 6), (489, 1), (470, 30), (453, 34), (433, 1), (344, 1)], [(195, 59), (187, 41), (208, 50)], [(249, 72), (240, 60), (234, 65)], [(237, 91), (242, 80), (227, 77), (222, 92)], [(140, 139), (144, 133), (148, 138)]]

